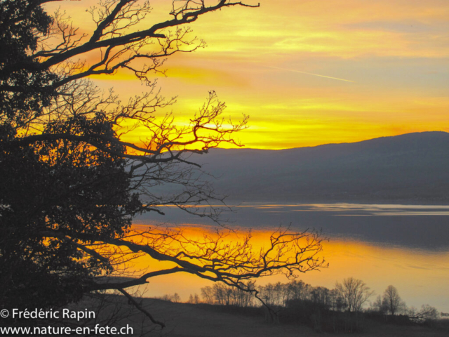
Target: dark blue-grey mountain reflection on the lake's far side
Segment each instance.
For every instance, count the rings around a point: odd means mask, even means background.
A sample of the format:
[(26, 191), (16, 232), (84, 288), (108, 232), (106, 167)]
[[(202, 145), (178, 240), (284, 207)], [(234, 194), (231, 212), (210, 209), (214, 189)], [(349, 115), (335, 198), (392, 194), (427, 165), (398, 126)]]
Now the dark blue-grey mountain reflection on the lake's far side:
[[(168, 216), (147, 214), (136, 223), (208, 225), (207, 220), (177, 209)], [(151, 216), (151, 218), (150, 218)], [(274, 228), (289, 225), (296, 230), (316, 228), (331, 239), (355, 239), (384, 246), (429, 251), (449, 250), (449, 206), (407, 204), (239, 204), (225, 211), (227, 225)]]

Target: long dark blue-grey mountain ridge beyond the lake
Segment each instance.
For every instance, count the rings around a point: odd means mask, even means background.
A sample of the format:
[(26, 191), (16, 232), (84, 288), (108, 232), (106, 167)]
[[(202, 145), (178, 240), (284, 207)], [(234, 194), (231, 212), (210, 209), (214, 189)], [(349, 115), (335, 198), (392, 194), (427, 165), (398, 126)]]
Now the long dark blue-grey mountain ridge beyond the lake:
[(449, 200), (449, 133), (289, 150), (213, 149), (190, 160), (238, 201)]

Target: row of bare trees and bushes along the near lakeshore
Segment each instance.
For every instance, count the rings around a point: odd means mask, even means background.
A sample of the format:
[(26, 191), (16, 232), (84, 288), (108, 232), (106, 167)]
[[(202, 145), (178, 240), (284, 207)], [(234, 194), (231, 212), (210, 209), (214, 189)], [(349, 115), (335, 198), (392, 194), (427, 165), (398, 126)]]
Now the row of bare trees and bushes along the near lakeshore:
[[(392, 285), (367, 305), (374, 291), (353, 277), (336, 282), (335, 289), (311, 286), (301, 280), (265, 286), (248, 282), (245, 288), (253, 291), (220, 283), (203, 287), (202, 303), (239, 308), (262, 307), (263, 303), (276, 313), (279, 322), (304, 324), (316, 331), (328, 332), (363, 331), (367, 318), (385, 323), (413, 324), (440, 316), (430, 305), (422, 305), (420, 310), (408, 308)], [(199, 296), (191, 295), (188, 303), (200, 303)]]

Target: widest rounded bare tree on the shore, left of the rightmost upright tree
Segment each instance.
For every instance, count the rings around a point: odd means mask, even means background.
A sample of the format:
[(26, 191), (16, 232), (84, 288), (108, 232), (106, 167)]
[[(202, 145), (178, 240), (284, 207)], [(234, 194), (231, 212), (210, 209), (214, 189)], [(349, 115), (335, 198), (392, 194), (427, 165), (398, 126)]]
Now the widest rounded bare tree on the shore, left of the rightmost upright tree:
[(335, 289), (344, 298), (344, 303), (349, 312), (360, 311), (363, 303), (374, 293), (370, 291), (365, 282), (361, 279), (354, 279), (354, 277), (343, 279), (342, 283), (336, 282)]

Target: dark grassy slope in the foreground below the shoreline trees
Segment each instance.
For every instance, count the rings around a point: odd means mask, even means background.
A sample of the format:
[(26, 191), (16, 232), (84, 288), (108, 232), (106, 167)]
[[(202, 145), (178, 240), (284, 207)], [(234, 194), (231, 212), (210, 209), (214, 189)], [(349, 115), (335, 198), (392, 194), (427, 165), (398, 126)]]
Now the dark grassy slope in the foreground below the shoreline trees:
[[(132, 326), (134, 334), (140, 336), (173, 336), (173, 337), (297, 337), (297, 336), (360, 336), (360, 337), (448, 337), (449, 320), (445, 320), (445, 329), (430, 329), (424, 326), (384, 325), (366, 321), (366, 331), (351, 335), (335, 333), (317, 333), (307, 326), (294, 324), (270, 324), (264, 317), (230, 314), (221, 312), (220, 308), (207, 308), (204, 305), (170, 303), (164, 300), (141, 298), (142, 305), (152, 313), (154, 318), (166, 324), (162, 331), (143, 317), (124, 296), (109, 296), (108, 302), (116, 303), (100, 310), (100, 317), (109, 317), (114, 312), (122, 317), (117, 322), (102, 322), (100, 326)], [(94, 310), (98, 301), (81, 300), (72, 305), (72, 310)], [(118, 311), (116, 311), (118, 309)], [(100, 318), (99, 317), (99, 318)], [(98, 322), (91, 322), (95, 326)], [(88, 324), (89, 325), (89, 324)], [(130, 336), (130, 335), (128, 335)]]

